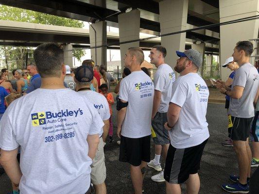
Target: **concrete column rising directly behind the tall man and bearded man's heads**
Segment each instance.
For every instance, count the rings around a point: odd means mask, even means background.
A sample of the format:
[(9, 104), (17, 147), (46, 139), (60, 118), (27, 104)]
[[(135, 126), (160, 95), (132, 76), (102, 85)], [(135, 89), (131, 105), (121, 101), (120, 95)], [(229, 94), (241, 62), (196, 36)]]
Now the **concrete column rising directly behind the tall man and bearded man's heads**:
[[(161, 34), (186, 30), (188, 0), (163, 0), (159, 2)], [(161, 45), (167, 50), (165, 62), (172, 68), (178, 59), (175, 51), (185, 50), (186, 33), (161, 37)]]

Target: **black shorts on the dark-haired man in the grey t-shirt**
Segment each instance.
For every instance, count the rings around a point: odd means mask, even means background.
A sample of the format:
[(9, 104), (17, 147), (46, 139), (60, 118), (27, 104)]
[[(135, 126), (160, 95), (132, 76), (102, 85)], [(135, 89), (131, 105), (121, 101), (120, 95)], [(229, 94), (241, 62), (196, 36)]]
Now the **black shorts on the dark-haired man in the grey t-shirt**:
[(250, 127), (253, 117), (239, 118), (235, 116), (228, 117), (228, 137), (234, 141), (246, 141), (249, 137)]

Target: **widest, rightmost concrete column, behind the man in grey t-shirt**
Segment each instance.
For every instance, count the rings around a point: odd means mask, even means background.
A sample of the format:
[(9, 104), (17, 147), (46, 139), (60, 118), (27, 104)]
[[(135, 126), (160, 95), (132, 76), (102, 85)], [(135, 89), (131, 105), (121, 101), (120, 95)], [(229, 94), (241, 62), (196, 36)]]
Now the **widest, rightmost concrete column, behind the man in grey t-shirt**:
[[(259, 15), (259, 0), (219, 0), (220, 22)], [(250, 20), (220, 26), (221, 63), (230, 57), (238, 41), (258, 38), (259, 20)], [(256, 45), (254, 45), (256, 47)], [(251, 64), (254, 65), (251, 58)], [(221, 78), (226, 81), (230, 70), (221, 68)]]

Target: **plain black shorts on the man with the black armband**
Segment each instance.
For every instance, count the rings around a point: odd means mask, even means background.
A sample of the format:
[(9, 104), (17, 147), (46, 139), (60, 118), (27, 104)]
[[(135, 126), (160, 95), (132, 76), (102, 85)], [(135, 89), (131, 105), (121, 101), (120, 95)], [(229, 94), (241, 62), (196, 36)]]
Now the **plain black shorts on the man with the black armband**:
[(119, 161), (139, 166), (141, 161), (150, 162), (150, 135), (129, 138), (121, 135)]

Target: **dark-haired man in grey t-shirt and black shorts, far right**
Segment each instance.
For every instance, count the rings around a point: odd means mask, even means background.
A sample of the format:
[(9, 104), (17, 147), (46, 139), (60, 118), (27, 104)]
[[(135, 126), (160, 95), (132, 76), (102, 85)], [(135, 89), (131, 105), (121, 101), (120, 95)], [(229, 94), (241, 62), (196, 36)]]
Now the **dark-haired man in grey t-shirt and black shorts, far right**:
[(232, 56), (234, 62), (237, 62), (240, 67), (236, 70), (231, 88), (225, 87), (225, 84), (222, 84), (221, 88), (221, 93), (230, 97), (229, 138), (233, 141), (239, 164), (239, 176), (229, 176), (235, 183), (222, 185), (222, 188), (230, 193), (249, 192), (252, 153), (248, 138), (255, 116), (253, 102), (259, 86), (258, 71), (249, 63), (253, 50), (253, 44), (250, 41), (240, 41), (236, 44)]

